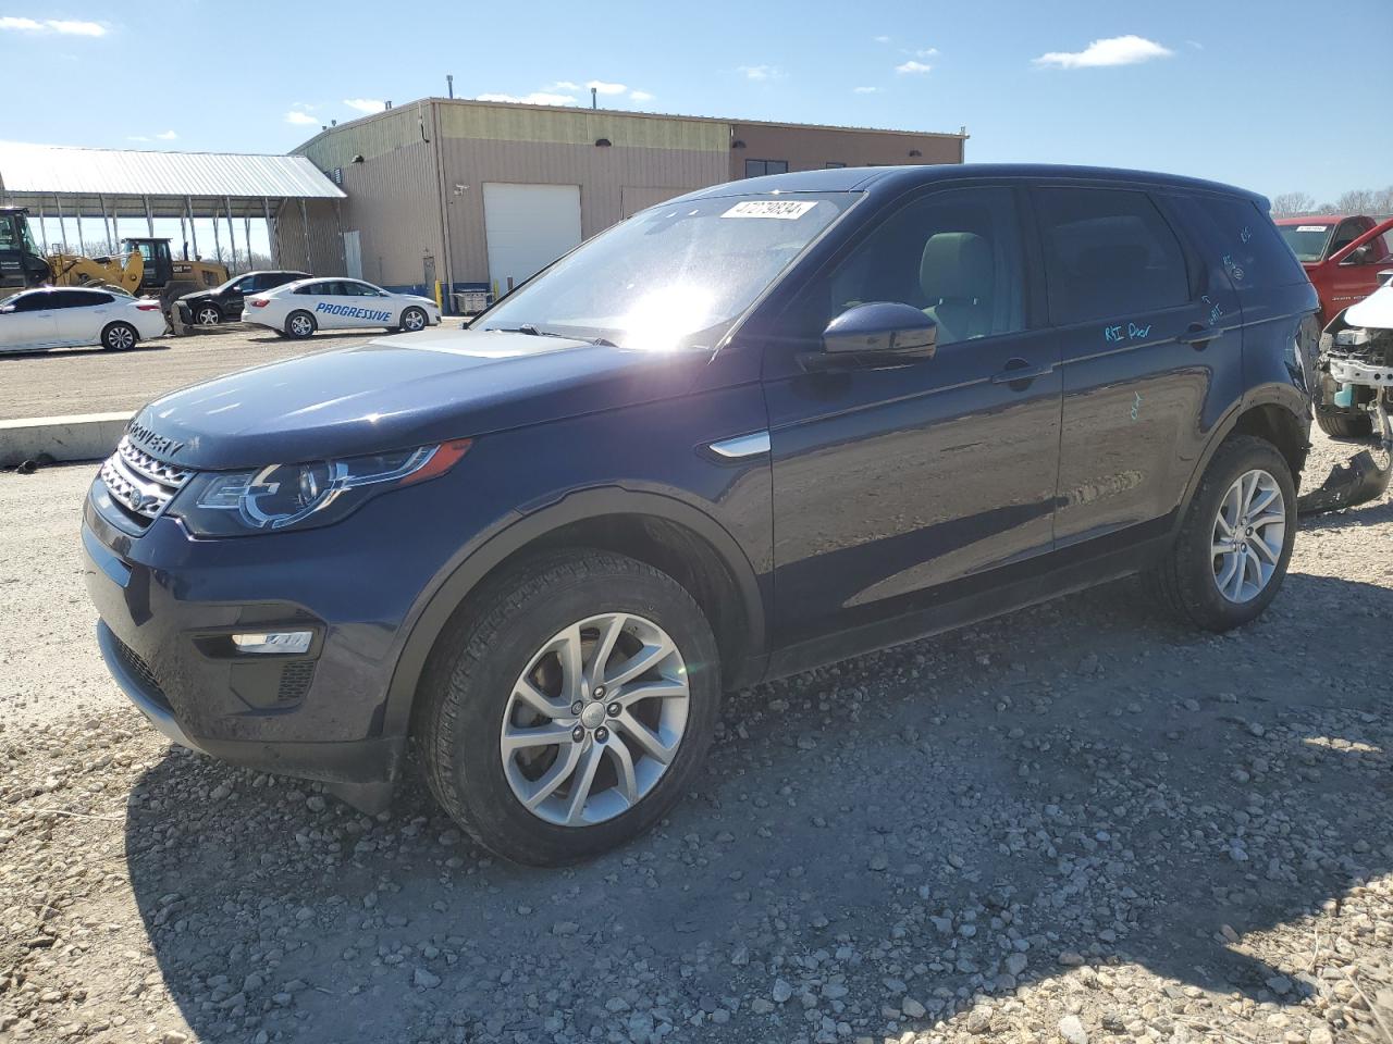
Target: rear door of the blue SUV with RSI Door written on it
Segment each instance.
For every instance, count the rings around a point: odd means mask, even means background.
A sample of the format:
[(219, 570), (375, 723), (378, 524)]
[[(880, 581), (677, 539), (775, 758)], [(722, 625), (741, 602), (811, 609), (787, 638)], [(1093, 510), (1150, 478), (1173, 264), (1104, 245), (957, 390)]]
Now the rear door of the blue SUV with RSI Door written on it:
[[(1031, 192), (1063, 342), (1060, 548), (1148, 526), (1160, 535), (1206, 437), (1223, 372), (1241, 384), (1241, 317), (1211, 285), (1174, 219), (1142, 189)], [(1121, 537), (1121, 544), (1126, 543)]]

